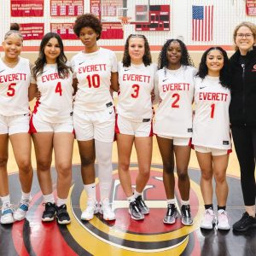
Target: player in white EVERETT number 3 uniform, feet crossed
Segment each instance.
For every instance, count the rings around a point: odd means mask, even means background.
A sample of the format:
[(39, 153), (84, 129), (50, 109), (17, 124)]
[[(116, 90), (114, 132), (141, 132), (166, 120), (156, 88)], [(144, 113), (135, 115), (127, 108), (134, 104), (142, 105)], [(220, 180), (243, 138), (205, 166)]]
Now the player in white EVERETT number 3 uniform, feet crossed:
[[(152, 158), (152, 102), (154, 73), (148, 40), (143, 35), (131, 34), (125, 43), (123, 61), (119, 62), (119, 101), (115, 132), (119, 154), (119, 180), (129, 201), (133, 219), (143, 219), (149, 209), (143, 201), (143, 189), (150, 176)], [(134, 192), (129, 170), (131, 149), (137, 151), (138, 174)]]

